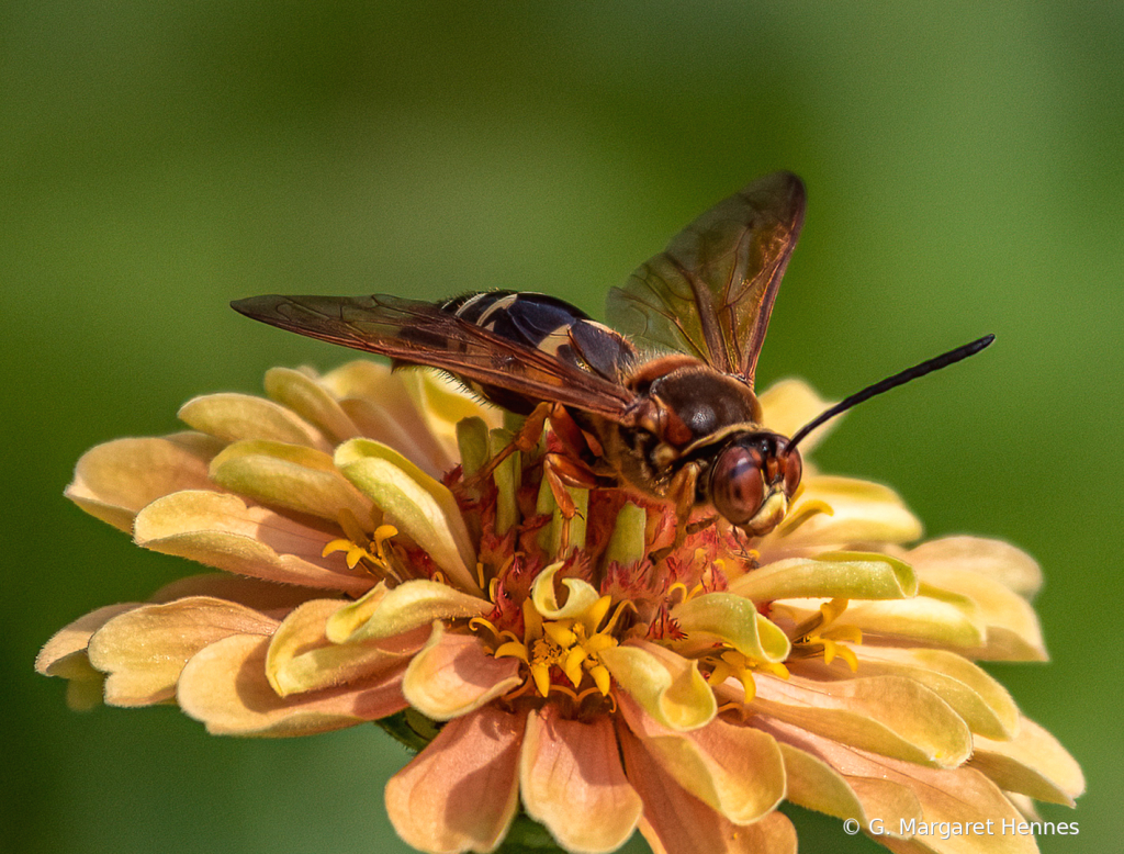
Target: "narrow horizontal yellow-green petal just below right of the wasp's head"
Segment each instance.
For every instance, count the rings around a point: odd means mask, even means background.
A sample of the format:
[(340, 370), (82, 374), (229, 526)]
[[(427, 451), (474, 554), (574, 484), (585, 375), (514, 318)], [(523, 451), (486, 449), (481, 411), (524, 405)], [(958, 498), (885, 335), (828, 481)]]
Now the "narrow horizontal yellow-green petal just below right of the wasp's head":
[(729, 592), (755, 602), (800, 597), (906, 599), (917, 594), (917, 576), (908, 564), (887, 555), (839, 552), (768, 563), (732, 582)]

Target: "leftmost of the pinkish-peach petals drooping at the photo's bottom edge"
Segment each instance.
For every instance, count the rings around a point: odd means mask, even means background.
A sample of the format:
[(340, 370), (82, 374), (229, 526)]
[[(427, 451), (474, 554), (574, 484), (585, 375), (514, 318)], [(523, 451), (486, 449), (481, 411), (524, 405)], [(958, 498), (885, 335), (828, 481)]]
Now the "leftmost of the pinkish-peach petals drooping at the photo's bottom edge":
[(433, 854), (495, 851), (515, 817), (524, 716), (495, 707), (451, 720), (387, 783), (390, 821)]

